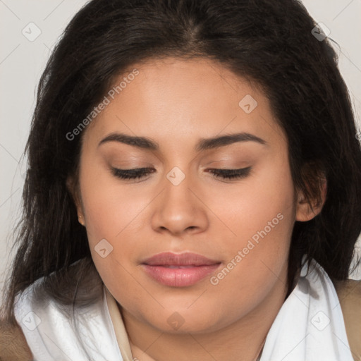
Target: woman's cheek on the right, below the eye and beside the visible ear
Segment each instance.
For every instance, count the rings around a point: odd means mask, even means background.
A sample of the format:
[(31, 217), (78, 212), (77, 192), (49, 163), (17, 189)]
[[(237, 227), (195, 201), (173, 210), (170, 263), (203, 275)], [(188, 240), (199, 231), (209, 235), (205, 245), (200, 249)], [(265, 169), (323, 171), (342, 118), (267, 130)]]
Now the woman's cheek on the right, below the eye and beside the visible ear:
[(237, 283), (250, 289), (255, 284), (267, 289), (270, 279), (279, 276), (288, 262), (295, 193), (287, 164), (279, 159), (262, 167), (222, 202), (226, 206), (221, 209), (221, 217), (233, 232), (224, 247), (228, 262), (237, 264), (229, 264), (232, 271), (222, 281), (226, 288)]

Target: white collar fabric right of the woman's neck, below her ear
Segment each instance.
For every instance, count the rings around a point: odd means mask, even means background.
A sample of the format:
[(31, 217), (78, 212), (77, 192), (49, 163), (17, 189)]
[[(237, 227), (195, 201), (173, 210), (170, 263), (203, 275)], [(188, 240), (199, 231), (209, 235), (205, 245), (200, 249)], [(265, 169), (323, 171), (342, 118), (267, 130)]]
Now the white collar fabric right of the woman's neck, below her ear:
[(314, 259), (309, 274), (307, 265), (267, 334), (260, 361), (353, 361), (334, 284)]

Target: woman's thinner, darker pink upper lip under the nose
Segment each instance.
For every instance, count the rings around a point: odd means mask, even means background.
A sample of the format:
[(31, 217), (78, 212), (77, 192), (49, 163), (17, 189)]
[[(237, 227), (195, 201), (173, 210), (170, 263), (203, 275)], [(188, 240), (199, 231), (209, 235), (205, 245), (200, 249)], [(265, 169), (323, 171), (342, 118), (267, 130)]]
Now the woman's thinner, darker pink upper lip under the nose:
[(204, 266), (209, 264), (218, 264), (221, 262), (192, 252), (185, 252), (181, 254), (161, 252), (145, 259), (142, 263), (148, 264), (149, 266)]

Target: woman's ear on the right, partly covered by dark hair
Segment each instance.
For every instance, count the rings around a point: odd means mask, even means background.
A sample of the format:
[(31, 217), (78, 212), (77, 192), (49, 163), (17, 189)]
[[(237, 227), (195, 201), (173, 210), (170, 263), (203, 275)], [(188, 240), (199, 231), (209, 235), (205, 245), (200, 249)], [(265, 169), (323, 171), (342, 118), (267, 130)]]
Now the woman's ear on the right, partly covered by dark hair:
[(298, 192), (295, 218), (296, 221), (310, 221), (321, 212), (322, 207), (324, 206), (324, 202), (326, 201), (327, 194), (327, 181), (325, 177), (320, 179), (319, 188), (319, 197), (314, 197), (314, 199), (310, 200), (310, 203), (307, 202), (303, 192)]

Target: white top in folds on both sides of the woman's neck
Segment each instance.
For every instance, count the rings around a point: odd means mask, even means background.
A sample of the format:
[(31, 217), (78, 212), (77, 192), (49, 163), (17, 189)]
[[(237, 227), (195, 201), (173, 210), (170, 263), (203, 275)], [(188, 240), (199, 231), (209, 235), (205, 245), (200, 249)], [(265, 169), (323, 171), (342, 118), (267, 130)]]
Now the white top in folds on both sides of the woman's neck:
[[(267, 334), (260, 361), (353, 361), (331, 279), (314, 260), (306, 271), (307, 263)], [(35, 361), (132, 360), (121, 314), (114, 318), (116, 301), (106, 287), (99, 302), (75, 313), (77, 332), (66, 313), (71, 306), (35, 300), (32, 286), (17, 298), (15, 314)]]

